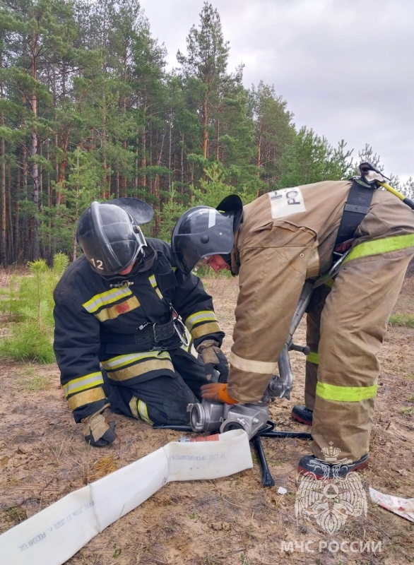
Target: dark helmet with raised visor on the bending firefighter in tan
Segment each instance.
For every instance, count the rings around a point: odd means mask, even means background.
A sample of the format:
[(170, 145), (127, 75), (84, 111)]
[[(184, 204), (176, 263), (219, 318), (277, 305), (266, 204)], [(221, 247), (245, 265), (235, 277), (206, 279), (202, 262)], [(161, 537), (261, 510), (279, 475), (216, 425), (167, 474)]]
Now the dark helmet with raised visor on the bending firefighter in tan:
[(203, 257), (230, 254), (242, 215), (243, 203), (237, 194), (226, 196), (217, 208), (195, 206), (184, 212), (171, 237), (179, 270), (188, 275)]

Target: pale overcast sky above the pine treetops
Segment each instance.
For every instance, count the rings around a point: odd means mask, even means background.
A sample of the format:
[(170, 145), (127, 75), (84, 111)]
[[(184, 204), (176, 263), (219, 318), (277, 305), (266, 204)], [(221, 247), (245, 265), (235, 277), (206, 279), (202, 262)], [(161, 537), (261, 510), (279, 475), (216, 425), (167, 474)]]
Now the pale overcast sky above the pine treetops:
[[(203, 0), (140, 0), (153, 37), (187, 53)], [(229, 71), (264, 81), (307, 126), (353, 157), (368, 143), (387, 174), (414, 177), (414, 0), (212, 0)]]

